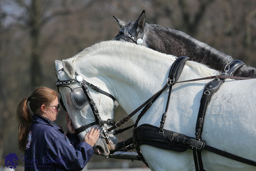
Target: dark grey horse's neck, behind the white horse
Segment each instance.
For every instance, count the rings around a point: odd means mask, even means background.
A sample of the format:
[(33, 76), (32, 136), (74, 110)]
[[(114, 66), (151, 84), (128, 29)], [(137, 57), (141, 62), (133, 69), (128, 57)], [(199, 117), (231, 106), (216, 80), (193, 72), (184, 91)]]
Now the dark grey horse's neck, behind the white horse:
[[(186, 33), (159, 25), (146, 24), (144, 35), (143, 40), (148, 48), (177, 57), (188, 56), (192, 61), (208, 65), (220, 72), (224, 70), (229, 57)], [(256, 68), (244, 65), (234, 75), (256, 78)]]

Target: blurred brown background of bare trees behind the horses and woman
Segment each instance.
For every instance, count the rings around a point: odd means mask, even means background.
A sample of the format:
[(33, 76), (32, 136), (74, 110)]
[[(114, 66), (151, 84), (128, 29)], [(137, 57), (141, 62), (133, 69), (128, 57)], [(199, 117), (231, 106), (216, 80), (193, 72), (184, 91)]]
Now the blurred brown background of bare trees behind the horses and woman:
[[(113, 39), (119, 32), (113, 15), (135, 21), (145, 9), (147, 23), (181, 30), (255, 67), (255, 7), (255, 0), (0, 0), (0, 164), (8, 153), (21, 155), (16, 133), (20, 99), (34, 87), (56, 88), (55, 60)], [(61, 114), (57, 123), (65, 125)]]

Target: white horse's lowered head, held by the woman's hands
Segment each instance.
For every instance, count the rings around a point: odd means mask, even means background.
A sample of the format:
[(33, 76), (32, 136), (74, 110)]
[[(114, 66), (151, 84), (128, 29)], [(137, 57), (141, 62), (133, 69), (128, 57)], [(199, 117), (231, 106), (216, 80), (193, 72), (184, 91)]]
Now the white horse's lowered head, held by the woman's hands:
[[(90, 131), (92, 126), (99, 127), (101, 134), (96, 144), (93, 146), (93, 150), (94, 153), (97, 155), (108, 156), (111, 153), (111, 151), (114, 150), (115, 144), (117, 144), (117, 137), (109, 132), (107, 132), (107, 134), (104, 134), (103, 131), (111, 127), (111, 125), (105, 123), (103, 126), (100, 126), (98, 124), (99, 122), (97, 122), (95, 112), (93, 112), (93, 107), (90, 104), (90, 98), (88, 97), (91, 96), (93, 102), (95, 103), (95, 106), (98, 109), (98, 114), (100, 118), (102, 119), (102, 121), (105, 122), (107, 122), (108, 119), (113, 119), (113, 109), (115, 103), (117, 104), (117, 102), (111, 100), (111, 97), (108, 97), (103, 93), (100, 93), (92, 89), (91, 85), (84, 84), (89, 90), (89, 96), (87, 96), (85, 94), (86, 92), (83, 90), (81, 86), (81, 82), (85, 80), (88, 81), (88, 78), (82, 73), (79, 73), (80, 70), (76, 71), (74, 64), (72, 64), (72, 62), (70, 62), (69, 59), (63, 60), (62, 62), (56, 60), (55, 65), (56, 70), (58, 71), (58, 81), (70, 81), (65, 83), (59, 82), (58, 91), (61, 96), (61, 101), (64, 102), (63, 107), (66, 108), (70, 116), (70, 119), (72, 120), (74, 128), (84, 128), (82, 129), (82, 132), (80, 132), (81, 130), (79, 130), (80, 133), (78, 135), (80, 139), (83, 141), (84, 136), (88, 131)], [(76, 72), (79, 73), (80, 79), (82, 78), (83, 81), (77, 78)], [(89, 79), (89, 81), (91, 80)], [(90, 83), (100, 87), (101, 90), (105, 91), (106, 93), (113, 93), (108, 90), (108, 88), (101, 80), (94, 79), (93, 82)]]

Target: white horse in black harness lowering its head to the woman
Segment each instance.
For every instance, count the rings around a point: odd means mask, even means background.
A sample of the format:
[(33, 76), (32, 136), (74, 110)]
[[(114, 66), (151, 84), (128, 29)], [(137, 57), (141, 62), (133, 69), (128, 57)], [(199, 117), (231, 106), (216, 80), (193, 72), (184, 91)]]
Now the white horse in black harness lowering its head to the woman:
[[(168, 77), (169, 69), (176, 57), (156, 52), (133, 43), (107, 41), (84, 49), (74, 57), (56, 61), (59, 80), (75, 79), (75, 72), (83, 79), (115, 97), (119, 105), (129, 114), (149, 97), (160, 90)], [(187, 61), (179, 81), (216, 75), (217, 71), (205, 65)], [(173, 86), (164, 129), (195, 137), (195, 125), (204, 85), (210, 80), (177, 83)], [(79, 83), (71, 88), (81, 87)], [(231, 154), (255, 161), (256, 154), (256, 79), (226, 79), (213, 95), (206, 112), (202, 139), (206, 144)], [(67, 111), (75, 128), (94, 122), (92, 109), (85, 105), (76, 108), (70, 100), (70, 89), (59, 87)], [(114, 101), (89, 88), (103, 120), (113, 119)], [(159, 126), (165, 110), (168, 90), (140, 119), (143, 123)], [(139, 112), (131, 119), (135, 122)], [(109, 126), (108, 126), (109, 128)], [(83, 139), (86, 129), (79, 134)], [(111, 135), (114, 144), (117, 138)], [(192, 150), (176, 152), (149, 145), (140, 150), (151, 170), (194, 170)], [(107, 156), (108, 146), (100, 138), (94, 146), (95, 154)], [(255, 170), (254, 166), (240, 163), (203, 150), (205, 170)]]

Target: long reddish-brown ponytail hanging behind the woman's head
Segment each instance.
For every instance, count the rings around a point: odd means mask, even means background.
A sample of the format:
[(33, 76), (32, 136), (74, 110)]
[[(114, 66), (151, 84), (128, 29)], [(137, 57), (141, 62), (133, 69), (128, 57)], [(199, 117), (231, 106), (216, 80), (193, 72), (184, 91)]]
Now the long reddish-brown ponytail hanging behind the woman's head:
[(28, 131), (32, 121), (32, 116), (29, 112), (27, 102), (28, 102), (28, 98), (26, 97), (21, 100), (20, 104), (17, 107), (17, 118), (19, 120), (18, 145), (21, 151), (25, 151), (25, 147), (27, 144)]

